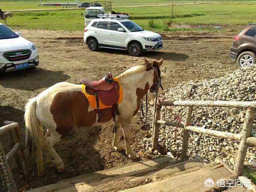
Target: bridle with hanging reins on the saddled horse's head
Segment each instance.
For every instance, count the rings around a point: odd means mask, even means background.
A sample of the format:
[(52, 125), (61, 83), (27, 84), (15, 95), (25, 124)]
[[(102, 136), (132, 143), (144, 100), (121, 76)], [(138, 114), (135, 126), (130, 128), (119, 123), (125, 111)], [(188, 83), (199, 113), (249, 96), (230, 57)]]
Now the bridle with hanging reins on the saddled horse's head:
[[(162, 84), (161, 84), (161, 71), (160, 71), (160, 68), (157, 66), (157, 65), (152, 65), (151, 66), (154, 70), (154, 72), (156, 73), (156, 82), (154, 82), (154, 84), (149, 88), (150, 91), (152, 92), (155, 92), (156, 93), (156, 98), (158, 97), (158, 90), (159, 90), (159, 87), (161, 87), (161, 89), (163, 90), (164, 88), (162, 87)], [(155, 90), (152, 90), (151, 88), (156, 86), (156, 89)], [(143, 98), (142, 98), (142, 101), (141, 101), (141, 112), (142, 112), (142, 116), (143, 117), (147, 117), (148, 116), (148, 92), (146, 93), (146, 116), (144, 114), (144, 111), (143, 111)]]

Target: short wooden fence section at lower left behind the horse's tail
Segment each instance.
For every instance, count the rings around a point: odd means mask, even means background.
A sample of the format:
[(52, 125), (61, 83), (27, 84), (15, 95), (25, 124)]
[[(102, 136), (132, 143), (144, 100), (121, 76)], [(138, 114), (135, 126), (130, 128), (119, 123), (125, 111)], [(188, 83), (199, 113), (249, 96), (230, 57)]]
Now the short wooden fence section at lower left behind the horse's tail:
[(0, 176), (4, 183), (5, 190), (8, 192), (16, 192), (18, 190), (9, 166), (10, 159), (14, 157), (17, 166), (23, 169), (25, 176), (28, 175), (28, 169), (26, 167), (22, 144), (20, 143), (19, 124), (16, 122), (5, 121), (4, 125), (5, 126), (0, 127), (0, 136), (8, 133), (10, 146), (13, 147), (10, 152), (5, 155), (4, 148), (0, 142)]

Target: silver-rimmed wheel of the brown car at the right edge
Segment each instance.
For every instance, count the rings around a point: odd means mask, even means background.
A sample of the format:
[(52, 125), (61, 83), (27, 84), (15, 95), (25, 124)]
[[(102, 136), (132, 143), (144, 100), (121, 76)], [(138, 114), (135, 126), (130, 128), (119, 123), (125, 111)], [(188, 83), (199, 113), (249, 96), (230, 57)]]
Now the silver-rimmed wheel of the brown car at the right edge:
[(254, 52), (251, 51), (242, 52), (236, 60), (236, 64), (238, 67), (250, 66), (255, 63), (256, 55)]

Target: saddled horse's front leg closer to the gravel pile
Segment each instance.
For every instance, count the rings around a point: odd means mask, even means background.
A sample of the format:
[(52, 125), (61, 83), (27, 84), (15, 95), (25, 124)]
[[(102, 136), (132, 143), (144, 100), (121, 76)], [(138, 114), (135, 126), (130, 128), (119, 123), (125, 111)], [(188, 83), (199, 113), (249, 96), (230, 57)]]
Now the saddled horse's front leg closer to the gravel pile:
[(132, 160), (136, 160), (137, 156), (136, 154), (132, 151), (131, 146), (130, 146), (130, 129), (131, 129), (131, 122), (128, 123), (122, 123), (123, 127), (123, 132), (124, 132), (124, 140), (125, 140), (125, 147), (126, 147), (126, 155), (131, 158)]

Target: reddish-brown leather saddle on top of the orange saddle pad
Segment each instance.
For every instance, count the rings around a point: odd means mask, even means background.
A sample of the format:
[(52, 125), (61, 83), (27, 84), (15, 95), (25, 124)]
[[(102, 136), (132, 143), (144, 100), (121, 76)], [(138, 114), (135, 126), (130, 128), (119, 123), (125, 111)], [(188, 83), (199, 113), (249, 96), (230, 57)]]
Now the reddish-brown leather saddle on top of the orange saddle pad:
[(116, 114), (120, 115), (117, 104), (119, 99), (119, 84), (114, 81), (112, 74), (109, 72), (108, 75), (99, 81), (91, 81), (84, 78), (81, 82), (86, 86), (86, 92), (96, 97), (98, 122), (100, 122), (99, 98), (104, 105), (112, 106), (113, 120), (115, 122)]

